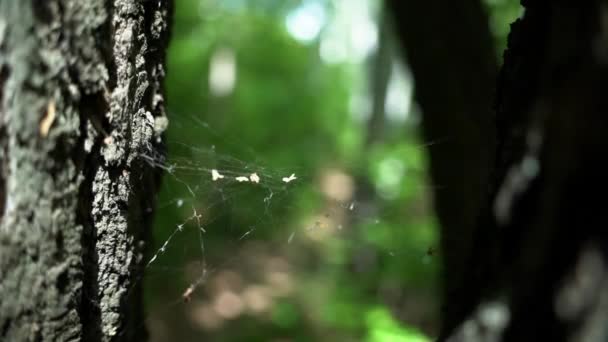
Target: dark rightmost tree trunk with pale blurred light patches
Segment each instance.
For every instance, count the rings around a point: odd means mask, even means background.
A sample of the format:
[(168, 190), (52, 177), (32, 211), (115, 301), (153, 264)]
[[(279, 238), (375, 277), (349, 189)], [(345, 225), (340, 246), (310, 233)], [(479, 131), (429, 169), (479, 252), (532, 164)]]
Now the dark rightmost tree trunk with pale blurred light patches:
[(471, 235), (444, 241), (470, 256), (446, 262), (463, 296), (445, 296), (457, 309), (440, 340), (605, 341), (608, 4), (522, 4), (498, 80), (490, 192)]

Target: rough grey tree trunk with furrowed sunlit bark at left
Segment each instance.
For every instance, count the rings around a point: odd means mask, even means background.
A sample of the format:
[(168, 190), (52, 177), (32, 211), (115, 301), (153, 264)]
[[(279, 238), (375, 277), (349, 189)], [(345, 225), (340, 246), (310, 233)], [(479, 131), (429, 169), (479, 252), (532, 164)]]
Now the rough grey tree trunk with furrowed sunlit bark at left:
[(169, 4), (0, 0), (0, 340), (145, 338)]

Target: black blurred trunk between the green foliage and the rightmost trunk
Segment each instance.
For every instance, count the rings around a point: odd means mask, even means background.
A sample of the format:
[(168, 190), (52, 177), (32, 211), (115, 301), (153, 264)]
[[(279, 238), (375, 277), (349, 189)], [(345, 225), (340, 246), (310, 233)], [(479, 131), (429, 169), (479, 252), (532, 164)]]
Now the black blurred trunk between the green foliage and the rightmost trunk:
[(465, 273), (488, 193), (495, 126), (495, 51), (479, 0), (388, 0), (422, 108), (441, 225), (444, 327), (470, 309)]

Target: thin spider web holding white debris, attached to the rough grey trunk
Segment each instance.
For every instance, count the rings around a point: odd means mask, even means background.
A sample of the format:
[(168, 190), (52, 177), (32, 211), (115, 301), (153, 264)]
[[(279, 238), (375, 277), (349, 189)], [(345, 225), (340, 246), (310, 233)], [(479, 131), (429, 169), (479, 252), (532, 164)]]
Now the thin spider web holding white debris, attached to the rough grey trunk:
[[(188, 120), (206, 134), (219, 137), (208, 123), (196, 117)], [(220, 140), (223, 148), (235, 148), (229, 140)], [(309, 175), (302, 173), (300, 167), (271, 169), (264, 166), (251, 148), (244, 149), (244, 154), (252, 160), (250, 162), (223, 153), (213, 144), (205, 147), (180, 140), (169, 140), (168, 144), (170, 152), (167, 157), (155, 153), (144, 155), (143, 159), (163, 171), (161, 192), (170, 198), (157, 204), (157, 218), (167, 212), (169, 215), (177, 213), (177, 221), (171, 227), (160, 227), (165, 237), (156, 241), (160, 246), (153, 250), (145, 268), (148, 273), (166, 272), (174, 266), (157, 266), (162, 263), (163, 255), (170, 249), (181, 249), (183, 254), (188, 254), (188, 249), (194, 246), (199, 254), (196, 258), (200, 274), (182, 295), (188, 297), (183, 299), (189, 300), (208, 272), (207, 237), (221, 235), (224, 240), (240, 244), (256, 231), (275, 226), (273, 212), (289, 209), (286, 198), (307, 181)], [(227, 226), (225, 222), (216, 224), (234, 217), (239, 222), (231, 220), (233, 222), (228, 222)], [(294, 235), (292, 231), (285, 240), (291, 243)], [(187, 241), (177, 242), (180, 236)], [(186, 258), (192, 259), (191, 253)], [(218, 263), (225, 262), (219, 261), (215, 265)]]

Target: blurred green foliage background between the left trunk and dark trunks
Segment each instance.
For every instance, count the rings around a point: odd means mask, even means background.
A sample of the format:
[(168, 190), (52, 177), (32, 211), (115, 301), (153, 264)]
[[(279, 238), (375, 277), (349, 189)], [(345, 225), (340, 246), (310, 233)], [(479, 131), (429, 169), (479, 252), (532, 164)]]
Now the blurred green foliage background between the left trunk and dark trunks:
[[(202, 260), (199, 231), (190, 221), (148, 269), (150, 311), (155, 322), (172, 322), (166, 329), (177, 340), (426, 341), (390, 314), (407, 298), (418, 303), (404, 316), (412, 324), (436, 312), (439, 260), (427, 253), (437, 233), (424, 146), (411, 122), (392, 125), (396, 134), (364, 146), (366, 124), (352, 115), (349, 102), (354, 89), (365, 85), (367, 70), (326, 64), (318, 41), (291, 37), (284, 18), (300, 3), (177, 2), (168, 56), (168, 151), (170, 159), (180, 157), (178, 167), (193, 164), (198, 171), (165, 175), (154, 240), (159, 248), (193, 207), (202, 208), (205, 254)], [(211, 59), (221, 49), (235, 56), (236, 83), (216, 96), (208, 80)], [(211, 169), (277, 179), (295, 173), (298, 179), (289, 187), (279, 180), (270, 188), (220, 189), (210, 180)], [(355, 208), (328, 200), (320, 185), (328, 170), (355, 182), (355, 196), (367, 184), (369, 198), (353, 200), (361, 202)], [(192, 197), (185, 184), (196, 196), (178, 206), (176, 200)], [(275, 197), (266, 202), (270, 190)], [(365, 213), (359, 205), (373, 210)], [(327, 222), (311, 229), (318, 217)], [(338, 220), (344, 228), (336, 228)], [(255, 230), (248, 234), (248, 227)], [(251, 250), (250, 240), (257, 243)], [(276, 275), (263, 263), (271, 257), (290, 265), (292, 289), (285, 293), (264, 280)], [(210, 284), (179, 306), (179, 314), (175, 306), (165, 311), (197, 279), (192, 269), (203, 261), (214, 271)], [(219, 291), (214, 279), (225, 270), (240, 277), (233, 283), (242, 283), (231, 291), (261, 287), (271, 308), (224, 319), (221, 328), (197, 325), (193, 317), (207, 317), (197, 312), (213, 307)]]

